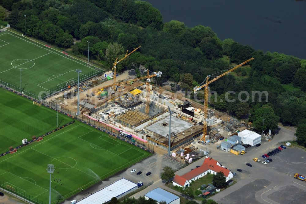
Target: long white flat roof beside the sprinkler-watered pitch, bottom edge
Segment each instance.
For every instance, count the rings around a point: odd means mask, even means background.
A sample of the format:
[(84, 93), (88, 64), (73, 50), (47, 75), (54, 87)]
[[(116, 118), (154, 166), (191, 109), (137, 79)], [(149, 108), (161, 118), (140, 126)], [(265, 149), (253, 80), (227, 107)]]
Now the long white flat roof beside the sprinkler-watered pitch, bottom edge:
[(132, 188), (137, 187), (136, 183), (133, 183), (125, 178), (122, 178), (115, 183), (106, 186), (98, 192), (88, 196), (87, 198), (78, 202), (78, 204), (101, 204), (110, 201), (113, 197), (117, 197)]

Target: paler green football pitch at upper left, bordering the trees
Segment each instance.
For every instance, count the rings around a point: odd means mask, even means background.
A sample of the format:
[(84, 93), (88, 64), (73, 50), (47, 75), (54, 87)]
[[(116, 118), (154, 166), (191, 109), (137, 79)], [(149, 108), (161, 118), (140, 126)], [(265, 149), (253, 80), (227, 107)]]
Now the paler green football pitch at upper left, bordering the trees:
[(76, 69), (80, 80), (103, 71), (10, 31), (0, 32), (0, 56), (0, 80), (35, 95), (75, 85)]

